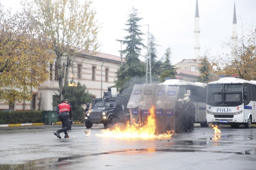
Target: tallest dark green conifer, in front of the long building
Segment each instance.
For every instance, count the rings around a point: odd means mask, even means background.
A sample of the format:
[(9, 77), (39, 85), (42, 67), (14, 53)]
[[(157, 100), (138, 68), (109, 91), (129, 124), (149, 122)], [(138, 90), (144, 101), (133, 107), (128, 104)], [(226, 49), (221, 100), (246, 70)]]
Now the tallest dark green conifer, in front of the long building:
[(123, 88), (127, 88), (125, 83), (129, 81), (134, 76), (145, 76), (145, 68), (141, 63), (139, 57), (141, 52), (141, 47), (145, 47), (142, 43), (142, 38), (140, 36), (143, 35), (140, 31), (140, 25), (138, 22), (141, 18), (138, 17), (137, 9), (132, 8), (132, 13), (129, 14), (129, 19), (125, 24), (128, 26), (127, 29), (124, 29), (128, 32), (128, 36), (124, 37), (125, 40), (121, 41), (123, 44), (127, 44), (126, 49), (120, 51), (121, 54), (125, 55), (126, 64), (120, 66), (120, 69), (117, 71), (117, 80), (115, 80), (116, 87), (120, 90)]

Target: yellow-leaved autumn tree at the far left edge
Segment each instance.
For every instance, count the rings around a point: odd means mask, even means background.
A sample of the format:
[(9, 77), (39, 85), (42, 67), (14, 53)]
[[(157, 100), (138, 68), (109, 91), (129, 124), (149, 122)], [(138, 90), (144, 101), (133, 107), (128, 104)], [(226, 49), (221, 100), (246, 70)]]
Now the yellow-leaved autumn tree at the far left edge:
[(44, 32), (27, 8), (11, 15), (0, 4), (0, 100), (32, 100), (32, 87), (48, 77), (52, 53)]

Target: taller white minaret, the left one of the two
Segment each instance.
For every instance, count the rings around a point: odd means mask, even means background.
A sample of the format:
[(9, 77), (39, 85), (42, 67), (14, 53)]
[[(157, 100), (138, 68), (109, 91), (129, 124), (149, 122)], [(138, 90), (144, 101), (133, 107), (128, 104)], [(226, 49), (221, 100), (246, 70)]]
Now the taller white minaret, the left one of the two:
[(199, 55), (200, 55), (199, 33), (200, 33), (200, 29), (199, 29), (199, 11), (198, 11), (197, 0), (196, 0), (196, 13), (195, 13), (195, 29), (194, 29), (194, 33), (195, 33), (195, 45), (194, 45), (195, 57), (197, 59), (197, 62), (199, 62)]

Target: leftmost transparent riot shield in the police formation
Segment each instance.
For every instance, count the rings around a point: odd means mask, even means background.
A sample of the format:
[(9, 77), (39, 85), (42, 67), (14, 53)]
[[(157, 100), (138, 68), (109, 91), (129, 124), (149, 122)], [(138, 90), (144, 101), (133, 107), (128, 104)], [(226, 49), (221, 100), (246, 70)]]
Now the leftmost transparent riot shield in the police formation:
[(142, 92), (143, 84), (135, 84), (133, 87), (132, 94), (130, 96), (129, 102), (127, 104), (127, 108), (130, 111), (130, 123), (133, 123), (133, 119), (139, 122), (139, 104), (141, 100), (141, 92)]

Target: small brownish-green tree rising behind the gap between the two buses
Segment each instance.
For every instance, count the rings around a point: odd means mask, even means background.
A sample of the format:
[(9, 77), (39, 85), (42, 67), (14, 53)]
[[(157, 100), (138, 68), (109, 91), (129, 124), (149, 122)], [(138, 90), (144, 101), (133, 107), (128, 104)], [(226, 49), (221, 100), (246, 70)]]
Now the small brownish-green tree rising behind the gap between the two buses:
[(198, 77), (198, 81), (202, 83), (209, 83), (211, 81), (210, 74), (212, 74), (212, 67), (208, 61), (207, 57), (204, 57), (201, 60), (202, 67), (199, 67), (198, 70), (200, 72), (200, 76)]

